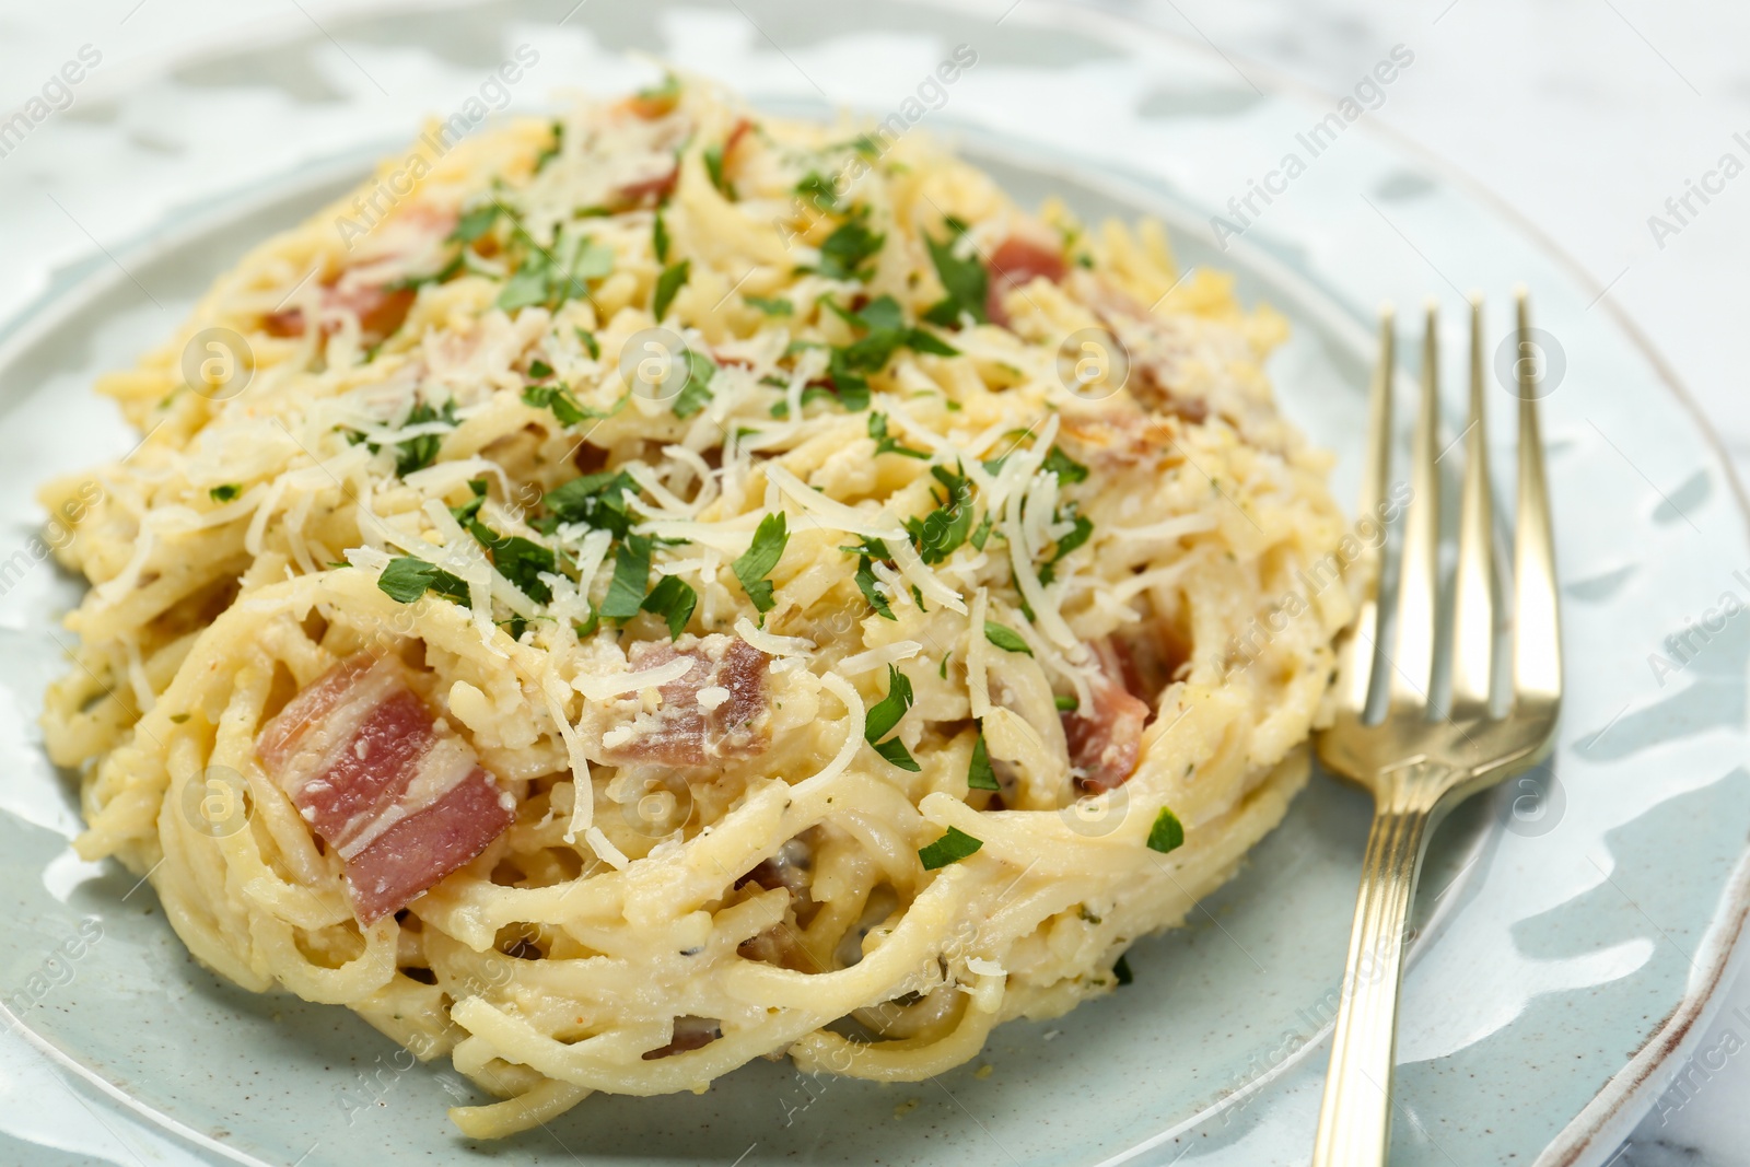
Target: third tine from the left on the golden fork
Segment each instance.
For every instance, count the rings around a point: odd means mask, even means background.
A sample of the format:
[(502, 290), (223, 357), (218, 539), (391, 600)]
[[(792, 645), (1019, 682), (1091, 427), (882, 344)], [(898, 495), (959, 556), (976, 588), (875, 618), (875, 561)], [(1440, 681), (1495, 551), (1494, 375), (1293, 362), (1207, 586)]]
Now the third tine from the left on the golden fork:
[(1458, 516), (1458, 581), (1452, 598), (1452, 716), (1489, 709), (1494, 677), (1494, 502), (1489, 492), (1489, 429), (1482, 416), (1482, 296), (1470, 299), (1470, 425)]

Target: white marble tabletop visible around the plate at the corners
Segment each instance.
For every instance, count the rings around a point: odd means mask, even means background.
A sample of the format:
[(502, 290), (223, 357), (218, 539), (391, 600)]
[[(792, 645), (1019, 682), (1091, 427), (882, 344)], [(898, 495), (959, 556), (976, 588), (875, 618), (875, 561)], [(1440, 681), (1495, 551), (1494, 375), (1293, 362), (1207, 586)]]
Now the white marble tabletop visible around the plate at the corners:
[[(103, 87), (114, 89), (166, 54), (296, 30), (340, 7), (360, 5), (14, 2), (0, 9), (0, 110), (18, 108), (84, 45), (102, 54)], [(1199, 37), (1239, 70), (1262, 65), (1334, 93), (1382, 49), (1410, 45), (1414, 75), (1393, 86), (1372, 117), (1507, 199), (1608, 287), (1608, 303), (1640, 325), (1703, 402), (1740, 472), (1750, 471), (1750, 394), (1738, 359), (1743, 324), (1732, 311), (1746, 308), (1750, 171), (1710, 178), (1727, 152), (1750, 163), (1743, 56), (1750, 7), (1699, 0), (1106, 0), (1106, 7)], [(124, 206), (88, 213), (105, 203), (100, 187), (124, 178), (102, 157), (68, 161), (52, 142), (65, 129), (46, 121), (0, 152), (7, 224), (0, 238), (35, 261), (0, 269), (0, 318), (42, 290), (38, 276), (49, 266), (145, 226), (130, 222)], [(1740, 131), (1743, 142), (1734, 138)], [(1701, 201), (1692, 182), (1715, 192)], [(75, 196), (77, 212), (42, 198), (65, 184), (89, 184), (89, 199)], [(1696, 1064), (1612, 1167), (1750, 1164), (1750, 1057), (1738, 1057), (1745, 1048), (1750, 976), (1738, 978)], [(0, 1038), (0, 1162), (16, 1158), (14, 1136), (65, 1148), (65, 1160), (44, 1151), (44, 1162), (140, 1164), (164, 1151), (150, 1130), (94, 1118), (38, 1055)]]

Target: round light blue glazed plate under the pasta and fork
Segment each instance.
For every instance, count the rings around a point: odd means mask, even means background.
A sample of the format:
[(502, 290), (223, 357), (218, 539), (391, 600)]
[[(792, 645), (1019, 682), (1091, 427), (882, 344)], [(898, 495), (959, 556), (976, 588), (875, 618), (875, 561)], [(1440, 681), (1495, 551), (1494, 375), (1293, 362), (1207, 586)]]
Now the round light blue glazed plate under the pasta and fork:
[[(89, 392), (93, 374), (130, 364), (245, 247), (355, 180), (416, 114), (458, 108), (528, 44), (541, 63), (513, 93), (523, 107), (562, 86), (644, 80), (648, 66), (623, 58), (644, 49), (770, 110), (924, 110), (919, 129), (957, 138), (1024, 203), (1062, 192), (1090, 219), (1167, 219), (1186, 264), (1234, 269), (1244, 299), (1292, 320), (1272, 374), (1290, 416), (1339, 453), (1344, 497), (1374, 306), (1433, 292), (1447, 352), (1461, 353), (1463, 290), (1494, 297), (1502, 336), (1508, 289), (1531, 287), (1547, 334), (1570, 696), (1556, 761), (1460, 810), (1430, 854), (1395, 1162), (1601, 1162), (1703, 1029), (1745, 919), (1750, 835), (1750, 618), (1690, 637), (1692, 660), (1671, 675), (1648, 667), (1722, 593), (1750, 602), (1732, 576), (1750, 569), (1745, 509), (1712, 437), (1608, 303), (1365, 114), (1349, 124), (1335, 98), (1115, 17), (1041, 0), (1006, 16), (889, 0), (595, 0), (560, 24), (570, 5), (331, 17), (332, 40), (312, 31), (180, 65), (126, 101), (93, 93), (75, 131), (44, 143), (107, 159), (108, 185), (84, 187), (88, 215), (156, 226), (114, 259), (54, 273), (0, 341), (0, 990), (96, 1118), (88, 1139), (0, 1104), (18, 1157), (131, 1162), (98, 1150), (102, 1127), (163, 1162), (282, 1167), (1306, 1158), (1368, 814), (1323, 775), (1186, 929), (1138, 945), (1134, 985), (1048, 1025), (999, 1029), (978, 1059), (989, 1076), (970, 1066), (877, 1087), (760, 1062), (702, 1097), (590, 1099), (495, 1146), (444, 1120), (444, 1106), (476, 1097), (458, 1076), (402, 1069), (343, 1010), (220, 983), (184, 954), (150, 889), (70, 857), (70, 775), (44, 759), (35, 717), (63, 668), (54, 618), (77, 588), (12, 549), (42, 518), (28, 502), (42, 478), (131, 444)], [(978, 61), (938, 94), (926, 77), (959, 44)], [(1320, 124), (1314, 156), (1304, 135)], [(1288, 154), (1306, 164), (1292, 178)], [(1251, 180), (1278, 192), (1265, 201)], [(19, 247), (26, 273), (47, 276), (37, 241)], [(1510, 404), (1491, 397), (1500, 467), (1512, 465)], [(1456, 411), (1447, 423), (1456, 437)], [(1512, 497), (1510, 481), (1496, 490)]]

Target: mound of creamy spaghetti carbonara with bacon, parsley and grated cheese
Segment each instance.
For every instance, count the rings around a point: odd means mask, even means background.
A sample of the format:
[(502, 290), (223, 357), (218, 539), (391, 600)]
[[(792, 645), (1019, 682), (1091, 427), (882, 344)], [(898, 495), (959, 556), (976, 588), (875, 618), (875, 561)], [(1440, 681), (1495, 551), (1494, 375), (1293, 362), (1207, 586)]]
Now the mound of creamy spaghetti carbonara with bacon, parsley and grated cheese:
[(1344, 532), (1283, 336), (922, 135), (674, 79), (434, 124), (107, 376), (142, 444), (44, 492), (79, 854), (453, 1059), (471, 1136), (966, 1062), (1304, 782), (1351, 597), (1297, 583)]

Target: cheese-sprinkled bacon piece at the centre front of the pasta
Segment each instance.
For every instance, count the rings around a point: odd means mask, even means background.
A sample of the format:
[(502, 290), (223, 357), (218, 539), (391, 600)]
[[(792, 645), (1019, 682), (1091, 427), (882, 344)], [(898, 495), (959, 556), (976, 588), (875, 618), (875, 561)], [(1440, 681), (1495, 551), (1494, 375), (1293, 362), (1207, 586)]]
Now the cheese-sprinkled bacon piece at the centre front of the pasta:
[[(662, 686), (662, 703), (604, 737), (604, 761), (704, 766), (719, 758), (754, 758), (766, 749), (760, 724), (766, 712), (765, 672), (770, 658), (740, 637), (684, 635), (668, 644), (639, 640), (626, 654), (635, 672), (688, 656), (693, 667)], [(723, 693), (707, 693), (721, 689)], [(721, 698), (710, 709), (700, 695)], [(612, 740), (625, 737), (625, 740)]]

